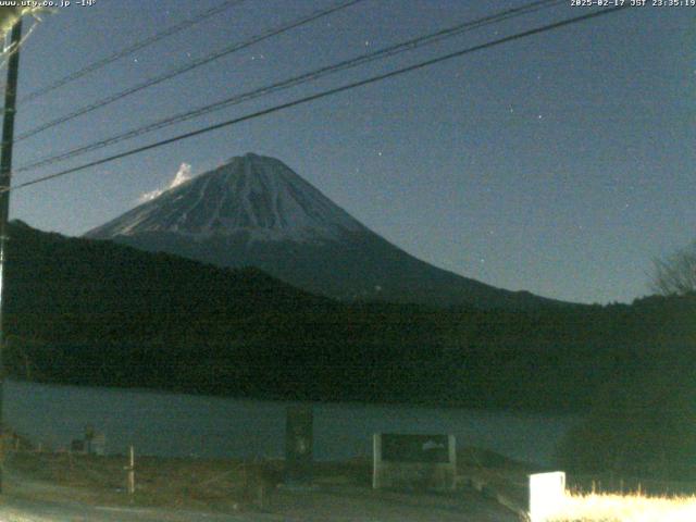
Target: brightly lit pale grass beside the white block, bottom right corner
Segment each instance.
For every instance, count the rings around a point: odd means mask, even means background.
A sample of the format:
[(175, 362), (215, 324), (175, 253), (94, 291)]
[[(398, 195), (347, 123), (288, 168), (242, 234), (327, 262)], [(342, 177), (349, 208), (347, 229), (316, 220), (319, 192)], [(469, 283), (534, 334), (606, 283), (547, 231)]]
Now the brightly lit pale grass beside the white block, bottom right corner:
[(568, 494), (548, 522), (694, 522), (696, 497)]

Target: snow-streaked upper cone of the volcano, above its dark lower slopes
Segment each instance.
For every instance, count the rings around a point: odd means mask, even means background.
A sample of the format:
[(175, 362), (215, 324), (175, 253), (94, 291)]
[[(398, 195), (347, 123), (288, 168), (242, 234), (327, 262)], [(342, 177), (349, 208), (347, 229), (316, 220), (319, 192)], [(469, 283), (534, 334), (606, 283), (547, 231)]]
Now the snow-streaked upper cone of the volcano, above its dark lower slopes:
[(87, 234), (169, 232), (207, 238), (247, 233), (254, 240), (323, 241), (365, 228), (279, 160), (232, 158)]

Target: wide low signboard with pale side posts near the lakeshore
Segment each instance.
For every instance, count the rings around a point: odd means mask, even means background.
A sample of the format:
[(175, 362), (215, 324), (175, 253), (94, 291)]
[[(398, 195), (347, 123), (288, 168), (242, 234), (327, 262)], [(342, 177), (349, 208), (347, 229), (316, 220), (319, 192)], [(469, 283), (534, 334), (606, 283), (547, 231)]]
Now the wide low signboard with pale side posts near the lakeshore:
[(453, 435), (373, 435), (374, 489), (453, 489), (457, 449)]

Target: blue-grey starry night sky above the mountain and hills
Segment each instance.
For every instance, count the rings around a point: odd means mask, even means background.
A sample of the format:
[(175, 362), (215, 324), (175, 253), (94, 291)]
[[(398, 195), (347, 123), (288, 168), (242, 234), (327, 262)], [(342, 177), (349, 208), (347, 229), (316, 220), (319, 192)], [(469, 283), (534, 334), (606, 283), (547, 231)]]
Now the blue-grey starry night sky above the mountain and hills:
[[(20, 97), (221, 1), (73, 1), (26, 40)], [(21, 104), (16, 133), (336, 3), (247, 0)], [(364, 0), (21, 141), (14, 166), (524, 3)], [(568, 0), (13, 183), (591, 11)], [(184, 163), (196, 175), (253, 151), (436, 266), (557, 299), (630, 302), (650, 293), (652, 259), (696, 238), (695, 22), (696, 7), (645, 7), (517, 40), (17, 190), (12, 217), (79, 235)]]

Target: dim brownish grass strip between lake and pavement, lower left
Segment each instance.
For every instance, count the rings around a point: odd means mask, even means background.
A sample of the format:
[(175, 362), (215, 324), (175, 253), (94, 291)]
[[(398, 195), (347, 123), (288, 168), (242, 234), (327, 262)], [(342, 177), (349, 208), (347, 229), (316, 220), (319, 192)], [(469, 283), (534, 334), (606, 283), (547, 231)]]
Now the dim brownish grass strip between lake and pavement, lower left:
[[(238, 459), (136, 458), (136, 492), (126, 492), (127, 459), (16, 452), (5, 462), (8, 489), (18, 497), (90, 505), (136, 505), (237, 512), (273, 504), (283, 462)], [(315, 463), (321, 484), (370, 484), (370, 463)]]

